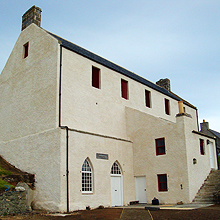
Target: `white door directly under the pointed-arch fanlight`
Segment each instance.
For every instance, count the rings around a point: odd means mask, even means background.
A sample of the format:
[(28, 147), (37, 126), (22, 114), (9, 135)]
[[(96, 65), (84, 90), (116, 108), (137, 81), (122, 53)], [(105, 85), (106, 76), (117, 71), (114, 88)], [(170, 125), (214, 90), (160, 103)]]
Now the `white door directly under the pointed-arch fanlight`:
[(122, 176), (111, 176), (112, 206), (122, 206)]

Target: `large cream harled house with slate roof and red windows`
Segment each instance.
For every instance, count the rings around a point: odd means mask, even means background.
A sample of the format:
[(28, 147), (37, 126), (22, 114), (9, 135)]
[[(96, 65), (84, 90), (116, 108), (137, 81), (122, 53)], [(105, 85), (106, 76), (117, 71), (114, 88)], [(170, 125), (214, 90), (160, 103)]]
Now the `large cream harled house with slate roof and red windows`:
[(192, 202), (217, 169), (197, 108), (34, 20), (26, 25), (40, 12), (24, 14), (0, 75), (0, 154), (35, 174), (34, 206)]

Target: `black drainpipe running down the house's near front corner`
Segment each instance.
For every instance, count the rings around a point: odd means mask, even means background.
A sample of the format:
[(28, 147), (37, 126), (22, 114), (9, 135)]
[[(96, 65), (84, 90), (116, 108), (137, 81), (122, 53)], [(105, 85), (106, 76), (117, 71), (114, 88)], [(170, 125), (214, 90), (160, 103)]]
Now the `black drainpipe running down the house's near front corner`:
[(62, 76), (62, 45), (60, 44), (60, 78), (59, 78), (59, 127), (66, 129), (66, 211), (69, 212), (69, 128), (61, 125), (61, 76)]

